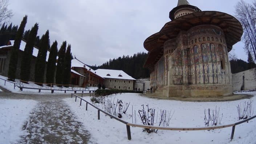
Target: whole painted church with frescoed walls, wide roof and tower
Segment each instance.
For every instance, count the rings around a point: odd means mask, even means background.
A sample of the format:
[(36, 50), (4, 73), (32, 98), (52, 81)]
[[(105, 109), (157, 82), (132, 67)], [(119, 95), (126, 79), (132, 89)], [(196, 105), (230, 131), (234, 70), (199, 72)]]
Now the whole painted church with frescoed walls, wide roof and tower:
[(228, 52), (240, 41), (243, 28), (233, 16), (201, 11), (179, 0), (170, 11), (171, 21), (148, 37), (144, 67), (151, 74), (155, 95), (226, 96), (232, 94)]

